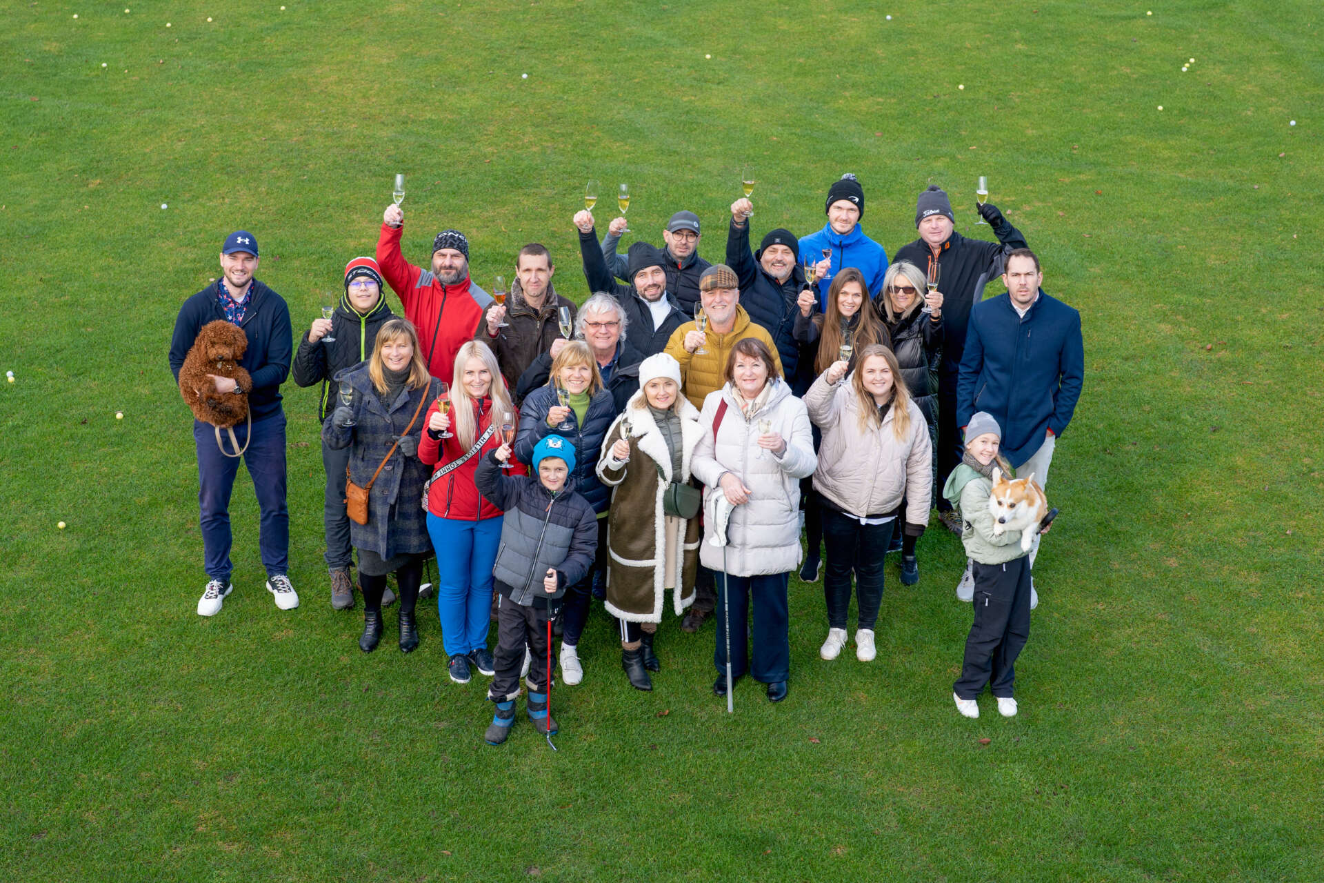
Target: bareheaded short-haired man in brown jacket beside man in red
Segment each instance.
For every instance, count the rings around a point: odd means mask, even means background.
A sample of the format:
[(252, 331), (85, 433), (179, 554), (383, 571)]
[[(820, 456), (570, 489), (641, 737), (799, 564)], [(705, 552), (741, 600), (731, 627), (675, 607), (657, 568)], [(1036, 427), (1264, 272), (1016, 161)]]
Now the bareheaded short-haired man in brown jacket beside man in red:
[[(561, 336), (557, 322), (560, 307), (569, 307), (571, 322), (575, 322), (575, 302), (552, 289), (555, 273), (545, 246), (530, 242), (522, 248), (515, 258), (515, 282), (508, 301), (504, 306), (494, 303), (489, 307), (487, 323), (474, 335), (475, 340), (482, 340), (496, 353), (496, 364), (512, 395), (524, 369)], [(519, 404), (515, 400), (516, 408)]]

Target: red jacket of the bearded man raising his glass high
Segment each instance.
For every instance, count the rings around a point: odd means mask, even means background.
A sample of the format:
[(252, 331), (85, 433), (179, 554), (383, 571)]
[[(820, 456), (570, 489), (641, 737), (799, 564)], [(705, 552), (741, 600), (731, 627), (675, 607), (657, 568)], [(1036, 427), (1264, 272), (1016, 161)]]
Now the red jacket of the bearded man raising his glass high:
[[(469, 277), (457, 285), (442, 285), (432, 270), (416, 267), (405, 261), (400, 254), (402, 233), (402, 226), (381, 225), (381, 236), (377, 238), (377, 266), (404, 304), (405, 318), (418, 328), (418, 343), (422, 347), (422, 357), (428, 361), (428, 373), (437, 380), (451, 383), (455, 353), (459, 352), (459, 347), (474, 339), (479, 324), (486, 324), (483, 310), (469, 294)], [(433, 330), (437, 335), (436, 343), (433, 343)]]

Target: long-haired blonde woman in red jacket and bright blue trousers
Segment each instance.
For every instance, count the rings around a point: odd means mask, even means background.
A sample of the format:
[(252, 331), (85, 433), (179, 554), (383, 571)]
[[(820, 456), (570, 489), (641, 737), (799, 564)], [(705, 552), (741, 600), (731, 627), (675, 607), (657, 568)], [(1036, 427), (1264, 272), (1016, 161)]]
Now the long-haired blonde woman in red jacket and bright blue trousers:
[[(502, 511), (478, 492), (474, 470), (485, 454), (514, 440), (516, 421), (496, 356), (482, 342), (463, 344), (455, 353), (450, 392), (432, 402), (418, 443), (418, 458), (436, 466), (424, 500), (437, 552), (441, 641), (455, 683), (469, 682), (470, 665), (489, 676), (495, 670), (487, 627)], [(510, 440), (503, 438), (503, 426), (510, 426)], [(522, 463), (514, 458), (511, 463), (511, 474), (526, 474)]]

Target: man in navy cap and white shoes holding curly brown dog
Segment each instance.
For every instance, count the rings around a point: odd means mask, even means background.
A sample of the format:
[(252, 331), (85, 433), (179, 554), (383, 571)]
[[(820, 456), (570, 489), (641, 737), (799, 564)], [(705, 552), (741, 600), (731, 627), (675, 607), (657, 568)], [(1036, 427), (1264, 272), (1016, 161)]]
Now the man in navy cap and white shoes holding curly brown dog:
[[(240, 367), (253, 379), (253, 388), (212, 375), (216, 391), (248, 396), (252, 425), (234, 428), (244, 463), (253, 478), (261, 511), (260, 539), (266, 589), (275, 606), (290, 610), (299, 606), (299, 596), (287, 576), (290, 568), (290, 514), (285, 504), (285, 412), (281, 409), (281, 384), (290, 373), (294, 335), (290, 310), (271, 289), (253, 278), (257, 271), (257, 240), (248, 230), (236, 230), (221, 248), (221, 278), (188, 301), (175, 319), (169, 343), (169, 367), (179, 381), (188, 351), (199, 331), (208, 322), (224, 319), (244, 330), (248, 349)], [(193, 445), (197, 450), (199, 526), (203, 531), (207, 588), (197, 601), (199, 616), (220, 613), (230, 585), (230, 491), (238, 474), (240, 458), (221, 453), (211, 424), (193, 421)]]

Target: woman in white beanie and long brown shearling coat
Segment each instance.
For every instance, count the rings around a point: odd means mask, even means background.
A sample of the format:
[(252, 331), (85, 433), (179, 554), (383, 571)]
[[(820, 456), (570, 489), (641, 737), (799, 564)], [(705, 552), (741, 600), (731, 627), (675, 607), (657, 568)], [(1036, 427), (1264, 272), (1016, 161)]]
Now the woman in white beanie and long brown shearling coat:
[(699, 519), (669, 515), (663, 495), (690, 481), (703, 430), (699, 412), (681, 395), (681, 365), (659, 352), (639, 363), (639, 391), (602, 442), (597, 475), (612, 487), (606, 531), (606, 610), (621, 624), (621, 666), (637, 690), (651, 690), (649, 671), (666, 590), (681, 616), (694, 604)]

